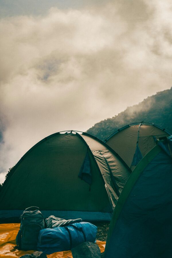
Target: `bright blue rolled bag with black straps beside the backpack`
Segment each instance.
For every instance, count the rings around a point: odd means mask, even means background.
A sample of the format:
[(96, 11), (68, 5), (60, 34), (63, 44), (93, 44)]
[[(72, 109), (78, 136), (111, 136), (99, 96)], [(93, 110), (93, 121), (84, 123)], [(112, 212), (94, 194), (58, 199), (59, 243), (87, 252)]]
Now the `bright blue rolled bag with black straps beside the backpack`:
[(40, 230), (37, 250), (46, 254), (68, 251), (83, 242), (95, 243), (97, 227), (89, 222)]

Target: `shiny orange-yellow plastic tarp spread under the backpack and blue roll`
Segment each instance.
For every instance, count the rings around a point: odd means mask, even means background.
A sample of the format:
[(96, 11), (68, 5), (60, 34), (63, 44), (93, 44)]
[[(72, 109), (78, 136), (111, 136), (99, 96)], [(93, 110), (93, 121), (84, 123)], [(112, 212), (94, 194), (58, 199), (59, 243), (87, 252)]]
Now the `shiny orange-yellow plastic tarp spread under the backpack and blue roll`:
[[(34, 251), (19, 251), (14, 248), (15, 246), (15, 238), (19, 231), (20, 224), (19, 223), (10, 223), (10, 224), (0, 224), (0, 258), (12, 258), (12, 257), (21, 257), (25, 254), (31, 254)], [(101, 242), (97, 240), (96, 243), (101, 253), (105, 250), (106, 242)], [(47, 255), (48, 258), (72, 258), (71, 251), (63, 251), (52, 253), (51, 255)]]

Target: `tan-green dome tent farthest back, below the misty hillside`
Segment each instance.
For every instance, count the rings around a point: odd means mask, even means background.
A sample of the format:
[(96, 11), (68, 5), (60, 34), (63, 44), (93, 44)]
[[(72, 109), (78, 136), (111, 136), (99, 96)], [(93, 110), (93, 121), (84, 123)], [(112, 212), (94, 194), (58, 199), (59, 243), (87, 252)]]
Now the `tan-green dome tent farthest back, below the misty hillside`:
[(142, 157), (156, 145), (156, 140), (170, 135), (171, 133), (160, 126), (139, 122), (117, 130), (105, 140), (105, 143), (133, 170)]

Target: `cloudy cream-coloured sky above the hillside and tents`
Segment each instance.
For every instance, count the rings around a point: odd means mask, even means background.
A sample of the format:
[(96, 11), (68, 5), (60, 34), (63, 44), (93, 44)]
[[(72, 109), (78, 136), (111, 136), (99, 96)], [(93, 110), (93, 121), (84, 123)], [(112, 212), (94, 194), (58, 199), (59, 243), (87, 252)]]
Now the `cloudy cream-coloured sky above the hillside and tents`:
[(42, 138), (171, 88), (171, 0), (1, 0), (0, 15), (0, 183)]

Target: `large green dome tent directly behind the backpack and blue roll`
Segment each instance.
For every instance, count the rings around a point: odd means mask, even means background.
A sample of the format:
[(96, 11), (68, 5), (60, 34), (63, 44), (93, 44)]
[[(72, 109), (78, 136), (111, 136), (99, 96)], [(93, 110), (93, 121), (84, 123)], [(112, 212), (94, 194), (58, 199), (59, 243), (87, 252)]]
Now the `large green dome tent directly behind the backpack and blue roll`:
[(44, 217), (110, 220), (130, 169), (105, 143), (75, 131), (52, 134), (15, 165), (0, 192), (0, 221), (38, 206)]

